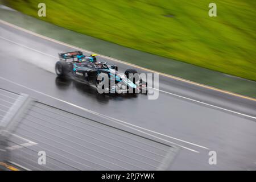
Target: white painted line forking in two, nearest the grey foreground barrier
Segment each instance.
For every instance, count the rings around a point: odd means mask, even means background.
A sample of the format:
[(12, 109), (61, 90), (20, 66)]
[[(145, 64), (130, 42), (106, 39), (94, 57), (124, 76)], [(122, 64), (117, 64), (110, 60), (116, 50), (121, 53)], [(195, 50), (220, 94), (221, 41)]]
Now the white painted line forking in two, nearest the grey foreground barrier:
[[(170, 140), (166, 140), (166, 139), (163, 139), (163, 138), (160, 138), (160, 137), (156, 137), (155, 135), (152, 135), (152, 134), (150, 134), (150, 133), (162, 135), (163, 137), (167, 137), (167, 138), (179, 140), (180, 142), (187, 143), (187, 144), (191, 144), (192, 146), (204, 148), (205, 150), (209, 150), (208, 147), (204, 147), (204, 146), (201, 146), (201, 145), (199, 145), (199, 144), (192, 143), (192, 142), (187, 142), (187, 141), (185, 141), (185, 140), (181, 140), (181, 139), (178, 139), (178, 138), (175, 138), (175, 137), (170, 137), (170, 136), (168, 136), (168, 135), (165, 135), (165, 134), (162, 134), (162, 133), (158, 133), (158, 132), (156, 132), (156, 131), (148, 130), (148, 129), (145, 129), (145, 128), (140, 127), (140, 126), (133, 125), (133, 124), (127, 123), (127, 122), (125, 122), (125, 121), (121, 121), (120, 119), (115, 119), (115, 118), (109, 117), (109, 116), (107, 116), (107, 115), (103, 115), (103, 114), (97, 113), (96, 111), (92, 111), (92, 110), (86, 109), (86, 108), (84, 108), (84, 107), (81, 107), (81, 106), (72, 104), (72, 103), (70, 103), (70, 102), (67, 102), (67, 101), (61, 100), (61, 99), (59, 99), (59, 98), (50, 96), (50, 95), (48, 95), (48, 94), (46, 94), (46, 93), (39, 92), (38, 90), (34, 90), (34, 89), (31, 89), (31, 88), (28, 88), (27, 86), (18, 84), (17, 82), (11, 81), (11, 80), (9, 80), (9, 79), (7, 79), (7, 78), (1, 77), (1, 76), (0, 76), (0, 78), (1, 78), (2, 80), (11, 82), (11, 83), (13, 83), (13, 84), (15, 84), (15, 85), (21, 86), (21, 87), (26, 88), (26, 89), (28, 89), (28, 90), (32, 90), (33, 92), (42, 94), (42, 95), (47, 96), (47, 97), (50, 97), (50, 98), (53, 98), (53, 99), (55, 99), (55, 100), (57, 100), (57, 101), (60, 101), (60, 102), (64, 102), (65, 104), (68, 104), (68, 105), (77, 107), (77, 108), (79, 108), (79, 109), (81, 109), (81, 110), (84, 110), (84, 111), (86, 111), (86, 112), (88, 112), (88, 113), (92, 113), (92, 114), (98, 115), (98, 116), (100, 116), (100, 117), (102, 117), (102, 118), (106, 118), (106, 119), (108, 119), (109, 121), (112, 121), (112, 122), (114, 122), (114, 123), (118, 123), (119, 125), (129, 127), (130, 129), (133, 129), (133, 130), (135, 130), (135, 131), (139, 131), (140, 133), (143, 133), (143, 134), (146, 134), (146, 135), (148, 135), (148, 136), (151, 136), (151, 137), (160, 139), (160, 140), (162, 140), (162, 141), (164, 141), (164, 142), (167, 142), (167, 143), (175, 144), (176, 146), (179, 146), (179, 147), (181, 147), (181, 148), (185, 148), (185, 149), (187, 149), (187, 150), (190, 150), (190, 151), (193, 151), (193, 152), (196, 152), (196, 153), (200, 153), (199, 151), (193, 150), (192, 148), (188, 148), (188, 147), (185, 147), (185, 146), (181, 146), (180, 144), (171, 142)], [(141, 129), (141, 130), (139, 130), (139, 129)], [(142, 131), (142, 130), (144, 130), (144, 131)], [(148, 131), (148, 132), (150, 132), (150, 133), (147, 133), (147, 132), (145, 132), (145, 131)]]

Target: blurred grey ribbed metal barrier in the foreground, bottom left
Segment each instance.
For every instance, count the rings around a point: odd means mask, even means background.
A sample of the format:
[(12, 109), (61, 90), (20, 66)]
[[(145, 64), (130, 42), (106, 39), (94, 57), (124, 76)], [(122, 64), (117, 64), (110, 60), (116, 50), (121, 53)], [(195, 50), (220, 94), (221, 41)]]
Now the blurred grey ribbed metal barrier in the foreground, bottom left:
[[(6, 90), (5, 90), (6, 91)], [(1, 89), (0, 89), (1, 95)], [(176, 146), (148, 139), (90, 118), (31, 100), (13, 103), (0, 122), (9, 163), (31, 170), (165, 170)], [(15, 100), (14, 100), (15, 98)], [(10, 103), (9, 103), (10, 101)], [(3, 101), (5, 102), (5, 101)], [(0, 104), (3, 104), (0, 100)], [(46, 152), (46, 165), (38, 152)]]

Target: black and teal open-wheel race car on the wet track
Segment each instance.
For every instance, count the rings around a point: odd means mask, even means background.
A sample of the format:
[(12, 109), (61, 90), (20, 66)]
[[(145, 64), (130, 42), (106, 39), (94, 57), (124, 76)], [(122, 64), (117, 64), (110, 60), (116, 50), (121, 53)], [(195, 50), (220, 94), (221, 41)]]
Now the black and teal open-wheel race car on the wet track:
[[(127, 69), (125, 73), (118, 72), (116, 65), (99, 62), (97, 55), (83, 55), (81, 51), (59, 53), (60, 60), (55, 64), (55, 72), (59, 77), (71, 77), (75, 80), (101, 86), (104, 93), (146, 93), (147, 82), (138, 76), (135, 69)], [(108, 75), (108, 86), (102, 84)], [(103, 86), (102, 86), (103, 85)]]

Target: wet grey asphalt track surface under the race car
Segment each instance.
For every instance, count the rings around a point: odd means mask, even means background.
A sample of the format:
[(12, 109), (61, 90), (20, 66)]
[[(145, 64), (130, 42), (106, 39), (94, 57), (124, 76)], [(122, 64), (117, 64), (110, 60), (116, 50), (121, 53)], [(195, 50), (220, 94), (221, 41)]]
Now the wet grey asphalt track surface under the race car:
[[(102, 96), (92, 87), (56, 78), (54, 65), (57, 53), (72, 51), (73, 48), (30, 35), (2, 23), (0, 36), (1, 88), (30, 94), (39, 101), (73, 113), (91, 118), (98, 117), (63, 104), (45, 95), (47, 94), (155, 131), (156, 133), (146, 132), (183, 147), (170, 169), (256, 169), (255, 101), (163, 76), (159, 76), (159, 89), (164, 92), (159, 92), (157, 100), (148, 100), (148, 96), (143, 94), (135, 97)], [(99, 59), (118, 65), (119, 71), (131, 68), (112, 60), (101, 57)], [(101, 119), (103, 122), (118, 125), (109, 119)], [(144, 129), (140, 130), (145, 131)], [(30, 139), (32, 138), (31, 136)], [(217, 152), (217, 165), (208, 164), (210, 150)]]

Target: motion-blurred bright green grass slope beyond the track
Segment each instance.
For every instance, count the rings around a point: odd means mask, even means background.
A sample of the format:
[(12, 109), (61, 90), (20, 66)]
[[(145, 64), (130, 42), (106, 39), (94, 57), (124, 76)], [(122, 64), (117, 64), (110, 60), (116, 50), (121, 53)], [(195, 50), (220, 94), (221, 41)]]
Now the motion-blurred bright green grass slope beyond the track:
[[(45, 18), (37, 14), (40, 2), (46, 3)], [(210, 2), (16, 0), (7, 5), (82, 34), (255, 81), (256, 1), (214, 0), (217, 17), (208, 16)]]

